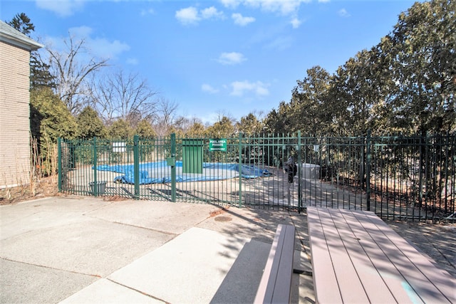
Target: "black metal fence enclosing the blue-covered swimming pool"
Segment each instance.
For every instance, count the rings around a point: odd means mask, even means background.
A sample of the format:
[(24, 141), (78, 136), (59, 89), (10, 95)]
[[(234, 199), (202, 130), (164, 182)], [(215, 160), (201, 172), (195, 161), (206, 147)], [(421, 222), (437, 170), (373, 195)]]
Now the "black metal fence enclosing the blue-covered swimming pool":
[(61, 192), (451, 221), (456, 136), (59, 140)]

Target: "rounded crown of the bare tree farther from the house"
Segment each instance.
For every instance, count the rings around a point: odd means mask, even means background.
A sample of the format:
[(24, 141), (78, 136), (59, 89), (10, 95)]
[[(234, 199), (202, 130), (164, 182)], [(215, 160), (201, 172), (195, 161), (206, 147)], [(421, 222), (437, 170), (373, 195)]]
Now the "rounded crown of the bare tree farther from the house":
[(156, 112), (158, 93), (137, 73), (118, 70), (105, 75), (91, 86), (93, 104), (107, 124), (118, 118), (130, 127), (136, 127), (142, 119), (151, 119)]

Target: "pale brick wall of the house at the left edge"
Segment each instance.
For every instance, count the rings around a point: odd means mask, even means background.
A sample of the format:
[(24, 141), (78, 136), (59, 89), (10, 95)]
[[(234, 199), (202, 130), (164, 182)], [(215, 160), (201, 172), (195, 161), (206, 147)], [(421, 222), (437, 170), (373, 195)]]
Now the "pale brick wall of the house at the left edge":
[(30, 52), (0, 41), (0, 188), (30, 182)]

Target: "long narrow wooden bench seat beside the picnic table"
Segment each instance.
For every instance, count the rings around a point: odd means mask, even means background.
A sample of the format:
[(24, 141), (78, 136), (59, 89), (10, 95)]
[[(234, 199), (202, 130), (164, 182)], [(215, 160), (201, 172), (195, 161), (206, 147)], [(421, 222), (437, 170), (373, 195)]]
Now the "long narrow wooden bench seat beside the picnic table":
[(254, 303), (290, 302), (294, 236), (294, 226), (277, 226)]

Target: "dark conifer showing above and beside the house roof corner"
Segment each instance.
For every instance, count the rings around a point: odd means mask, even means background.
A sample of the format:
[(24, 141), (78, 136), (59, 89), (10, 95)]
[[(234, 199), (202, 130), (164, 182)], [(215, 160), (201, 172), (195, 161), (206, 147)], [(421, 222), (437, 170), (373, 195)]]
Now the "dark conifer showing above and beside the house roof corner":
[[(24, 13), (16, 14), (11, 21), (6, 21), (16, 30), (30, 37), (31, 32), (35, 31), (35, 26), (30, 18)], [(50, 66), (41, 59), (39, 51), (30, 53), (30, 88), (55, 87), (54, 78), (49, 72)]]

